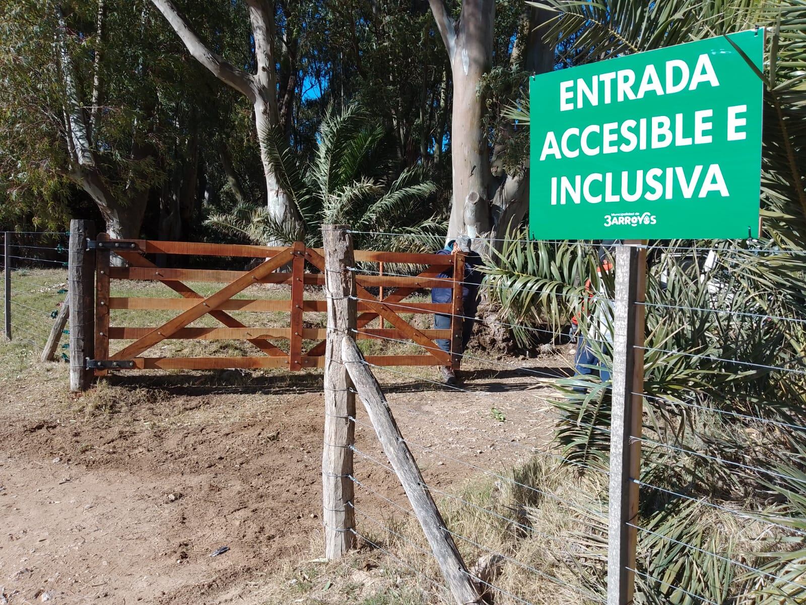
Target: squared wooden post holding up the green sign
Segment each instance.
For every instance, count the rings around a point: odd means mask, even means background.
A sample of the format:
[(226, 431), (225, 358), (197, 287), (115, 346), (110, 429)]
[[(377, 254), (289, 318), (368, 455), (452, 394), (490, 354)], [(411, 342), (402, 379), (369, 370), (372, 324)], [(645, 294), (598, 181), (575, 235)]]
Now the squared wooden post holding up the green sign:
[(646, 248), (616, 251), (613, 315), (613, 414), (610, 423), (608, 605), (628, 605), (635, 589), (638, 484), (644, 388)]

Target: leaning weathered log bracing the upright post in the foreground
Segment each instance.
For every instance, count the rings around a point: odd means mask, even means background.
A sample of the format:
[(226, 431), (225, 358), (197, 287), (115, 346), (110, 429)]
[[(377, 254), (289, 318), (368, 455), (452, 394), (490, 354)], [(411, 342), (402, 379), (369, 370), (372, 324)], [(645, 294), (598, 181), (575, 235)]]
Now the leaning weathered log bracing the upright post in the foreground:
[(369, 368), (364, 365), (364, 358), (355, 342), (344, 339), (342, 342), (342, 356), (347, 364), (347, 371), (358, 390), (359, 397), (367, 408), (367, 414), (375, 427), (384, 453), (392, 464), (392, 468), (400, 479), (405, 494), (409, 497), (414, 515), (417, 516), (422, 532), (434, 552), (439, 569), (445, 578), (451, 593), (458, 605), (471, 605), (482, 603), (478, 590), (474, 586), (471, 574), (467, 572), (462, 555), (456, 548), (453, 537), (445, 527), (445, 521), (439, 514), (437, 505), (426, 487), (420, 469), (409, 446), (397, 428), (392, 411), (389, 410), (386, 398), (380, 390)]

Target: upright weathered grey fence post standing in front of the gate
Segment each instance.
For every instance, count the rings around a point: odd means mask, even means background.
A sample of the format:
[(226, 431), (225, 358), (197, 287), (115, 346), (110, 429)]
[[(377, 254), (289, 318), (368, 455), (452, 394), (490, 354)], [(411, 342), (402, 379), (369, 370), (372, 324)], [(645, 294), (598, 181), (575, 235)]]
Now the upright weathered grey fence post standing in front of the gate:
[(355, 264), (349, 227), (322, 227), (325, 248), (327, 333), (325, 347), (325, 437), (322, 447), (322, 524), (325, 557), (342, 557), (355, 545), (353, 452), (355, 394), (342, 361), (342, 340), (355, 334)]

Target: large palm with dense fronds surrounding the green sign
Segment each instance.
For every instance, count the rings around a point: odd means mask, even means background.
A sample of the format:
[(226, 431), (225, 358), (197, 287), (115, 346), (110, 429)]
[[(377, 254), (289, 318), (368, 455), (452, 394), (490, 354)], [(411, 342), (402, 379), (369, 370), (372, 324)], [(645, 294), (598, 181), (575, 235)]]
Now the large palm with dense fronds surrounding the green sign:
[[(566, 65), (768, 27), (768, 59), (764, 72), (757, 73), (765, 87), (762, 238), (672, 241), (655, 252), (650, 266), (643, 430), (663, 445), (645, 444), (642, 453), (641, 480), (659, 490), (642, 488), (639, 524), (654, 535), (639, 532), (635, 602), (696, 603), (674, 588), (681, 586), (704, 602), (806, 603), (806, 548), (797, 533), (806, 528), (806, 501), (800, 495), (806, 432), (791, 428), (806, 425), (806, 377), (788, 371), (803, 368), (806, 356), (806, 254), (801, 253), (806, 252), (806, 2), (534, 4), (555, 10), (545, 35)], [(513, 107), (511, 117), (528, 120), (528, 102)], [(718, 261), (704, 275), (702, 251), (708, 250)], [(534, 331), (526, 328), (559, 331), (582, 301), (598, 304), (587, 300), (584, 287), (585, 277), (596, 279), (596, 263), (589, 242), (521, 240), (501, 249), (486, 282), (506, 321), (525, 327), (514, 336), (529, 344)], [(606, 278), (600, 287), (612, 294)], [(583, 322), (585, 316), (580, 316)], [(609, 364), (609, 346), (593, 346)], [(571, 461), (608, 465), (608, 386), (598, 378), (571, 379), (556, 398), (555, 438)], [(737, 471), (736, 463), (744, 467)], [(753, 468), (775, 469), (775, 475)], [(727, 529), (735, 523), (732, 515), (717, 519), (713, 509), (670, 493), (718, 498), (723, 509), (743, 511), (751, 519), (774, 516), (794, 531), (744, 544), (739, 555), (736, 537)], [(604, 569), (589, 563), (601, 553), (584, 540), (580, 569), (587, 566), (590, 588), (601, 590)], [(727, 565), (709, 552), (741, 556), (746, 567)]]

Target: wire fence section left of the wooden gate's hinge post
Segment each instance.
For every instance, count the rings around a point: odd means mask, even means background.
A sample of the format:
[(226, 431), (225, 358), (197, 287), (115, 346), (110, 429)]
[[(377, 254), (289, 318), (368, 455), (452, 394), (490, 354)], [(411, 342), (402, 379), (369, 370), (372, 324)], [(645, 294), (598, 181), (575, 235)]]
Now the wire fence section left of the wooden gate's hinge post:
[[(40, 353), (67, 297), (67, 232), (3, 232), (4, 336), (23, 352)], [(56, 360), (68, 361), (67, 336)]]

